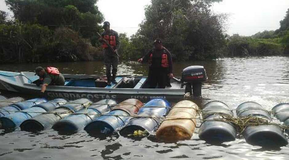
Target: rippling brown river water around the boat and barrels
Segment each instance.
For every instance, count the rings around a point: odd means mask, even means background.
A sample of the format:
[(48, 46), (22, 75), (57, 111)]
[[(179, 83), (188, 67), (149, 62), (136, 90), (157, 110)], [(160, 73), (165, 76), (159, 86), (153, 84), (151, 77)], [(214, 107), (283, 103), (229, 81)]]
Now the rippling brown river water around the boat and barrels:
[[(289, 57), (175, 62), (174, 75), (180, 76), (181, 70), (191, 65), (204, 66), (209, 78), (203, 85), (202, 98), (192, 99), (200, 108), (212, 100), (222, 101), (232, 110), (246, 101), (257, 102), (267, 110), (289, 102)], [(33, 71), (36, 66), (55, 66), (65, 74), (105, 74), (102, 62), (10, 64), (0, 65), (0, 70)], [(147, 75), (147, 66), (121, 62), (118, 74)], [(153, 135), (133, 140), (118, 134), (91, 137), (85, 131), (60, 135), (54, 130), (37, 134), (0, 130), (0, 143), (0, 159), (288, 159), (289, 154), (288, 145), (262, 148), (247, 144), (242, 137), (210, 144), (200, 140), (198, 128), (191, 140), (174, 143), (158, 142)]]

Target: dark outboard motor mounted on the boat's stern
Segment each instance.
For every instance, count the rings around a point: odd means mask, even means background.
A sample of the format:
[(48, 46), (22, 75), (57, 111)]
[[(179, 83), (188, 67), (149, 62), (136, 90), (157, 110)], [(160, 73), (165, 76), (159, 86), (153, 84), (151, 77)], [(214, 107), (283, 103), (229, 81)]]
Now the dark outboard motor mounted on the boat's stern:
[(181, 88), (185, 85), (185, 93), (201, 96), (202, 82), (206, 80), (207, 74), (204, 66), (189, 66), (182, 71)]

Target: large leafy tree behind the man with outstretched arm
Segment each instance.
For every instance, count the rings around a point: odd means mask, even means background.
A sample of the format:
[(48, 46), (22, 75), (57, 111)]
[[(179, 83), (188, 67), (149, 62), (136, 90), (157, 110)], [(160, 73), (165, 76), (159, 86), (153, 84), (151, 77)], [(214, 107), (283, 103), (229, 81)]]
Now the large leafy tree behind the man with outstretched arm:
[(222, 22), (225, 15), (213, 14), (210, 6), (221, 0), (152, 0), (145, 8), (145, 19), (131, 37), (140, 55), (162, 38), (174, 58), (187, 60), (212, 57), (214, 50), (224, 46)]

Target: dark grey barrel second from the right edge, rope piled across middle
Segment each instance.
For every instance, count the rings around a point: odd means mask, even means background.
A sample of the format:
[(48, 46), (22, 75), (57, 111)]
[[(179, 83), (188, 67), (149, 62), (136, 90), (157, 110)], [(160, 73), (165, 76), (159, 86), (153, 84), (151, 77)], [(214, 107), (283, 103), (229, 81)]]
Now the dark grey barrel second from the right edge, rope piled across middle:
[[(238, 117), (252, 116), (272, 122), (268, 111), (256, 102), (244, 102), (240, 104), (236, 113)], [(247, 126), (243, 131), (247, 143), (257, 146), (285, 146), (288, 144), (283, 131), (276, 125)]]

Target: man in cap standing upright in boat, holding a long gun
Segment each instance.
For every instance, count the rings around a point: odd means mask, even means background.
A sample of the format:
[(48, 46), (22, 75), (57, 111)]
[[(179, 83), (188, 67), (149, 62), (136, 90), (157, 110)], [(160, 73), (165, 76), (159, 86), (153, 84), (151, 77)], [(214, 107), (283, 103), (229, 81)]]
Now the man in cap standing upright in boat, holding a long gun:
[[(104, 62), (106, 66), (106, 77), (107, 77), (107, 85), (111, 85), (111, 82), (116, 83), (115, 77), (117, 75), (117, 65), (119, 62), (119, 57), (117, 54), (117, 50), (120, 48), (120, 41), (118, 37), (118, 33), (114, 30), (110, 29), (109, 22), (103, 23), (104, 32), (101, 34), (101, 37), (108, 42), (108, 44), (112, 47), (109, 47), (103, 39), (100, 39), (102, 42), (101, 47), (104, 48)], [(112, 74), (111, 77), (110, 68), (112, 66)]]

